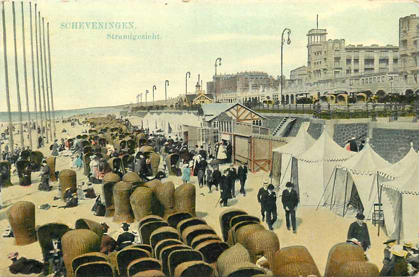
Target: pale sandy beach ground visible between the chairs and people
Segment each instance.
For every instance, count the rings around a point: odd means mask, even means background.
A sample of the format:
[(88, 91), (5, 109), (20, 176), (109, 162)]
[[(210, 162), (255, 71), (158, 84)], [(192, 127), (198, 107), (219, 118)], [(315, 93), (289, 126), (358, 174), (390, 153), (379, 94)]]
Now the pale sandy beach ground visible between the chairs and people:
[[(62, 133), (61, 130), (66, 128), (71, 136), (75, 136), (81, 133), (83, 126), (71, 127), (67, 123), (57, 123), (57, 139), (61, 137), (67, 137), (68, 133)], [(33, 136), (33, 138), (36, 136)], [(18, 137), (15, 137), (17, 140)], [(47, 146), (49, 147), (50, 144)], [(49, 148), (44, 147), (41, 149), (45, 156), (49, 156), (51, 151)], [(70, 168), (71, 158), (60, 156), (57, 158), (57, 170)], [(162, 164), (162, 163), (160, 163)], [(225, 166), (225, 165), (224, 165)], [(224, 168), (221, 166), (221, 168)], [(82, 169), (75, 169), (77, 172), (78, 181), (87, 181), (87, 177), (83, 175)], [(32, 173), (32, 185), (31, 186), (20, 186), (18, 183), (18, 176), (12, 175), (12, 182), (14, 186), (3, 188), (2, 195), (5, 206), (0, 209), (0, 230), (3, 232), (9, 225), (7, 219), (7, 209), (15, 202), (20, 200), (31, 201), (35, 203), (36, 209), (36, 224), (42, 225), (48, 222), (62, 222), (69, 224), (74, 227), (74, 224), (79, 218), (88, 218), (97, 222), (106, 222), (109, 226), (109, 233), (115, 234), (119, 229), (119, 224), (112, 222), (112, 217), (98, 217), (93, 215), (91, 208), (94, 204), (95, 199), (81, 200), (79, 206), (69, 209), (58, 209), (57, 207), (51, 207), (48, 210), (41, 210), (38, 208), (39, 205), (49, 203), (50, 205), (63, 205), (64, 202), (61, 200), (53, 200), (53, 197), (58, 194), (59, 183), (53, 183), (53, 189), (51, 191), (39, 191), (37, 189), (40, 182), (40, 172)], [(236, 198), (230, 199), (229, 204), (234, 208), (241, 208), (251, 215), (260, 217), (260, 206), (257, 203), (257, 191), (262, 185), (262, 181), (268, 177), (266, 172), (249, 173), (246, 181), (246, 196), (242, 196), (238, 193), (240, 184), (236, 183)], [(182, 183), (181, 177), (170, 176), (162, 181), (171, 180), (175, 183), (175, 186)], [(197, 216), (205, 219), (209, 225), (211, 225), (219, 235), (221, 235), (220, 224), (218, 216), (225, 208), (217, 205), (215, 207), (219, 193), (213, 191), (208, 193), (208, 188), (204, 186), (199, 188), (196, 177), (191, 177), (192, 183), (196, 185), (196, 211)], [(301, 184), (300, 184), (301, 185)], [(101, 193), (101, 185), (94, 184), (96, 193)], [(330, 247), (338, 242), (346, 240), (346, 234), (349, 224), (355, 219), (352, 217), (342, 218), (336, 215), (333, 211), (326, 207), (320, 207), (316, 210), (315, 206), (300, 206), (297, 209), (297, 234), (293, 234), (288, 231), (285, 225), (284, 210), (280, 203), (280, 198), (277, 200), (278, 208), (278, 220), (274, 224), (274, 231), (277, 233), (281, 247), (291, 245), (304, 245), (310, 251), (313, 256), (320, 273), (324, 273), (326, 265), (327, 255)], [(267, 225), (263, 222), (265, 227)], [(380, 231), (380, 236), (377, 236), (377, 227), (374, 227), (370, 220), (367, 221), (369, 234), (371, 238), (371, 248), (369, 249), (369, 256), (371, 262), (375, 263), (381, 268), (382, 261), (382, 242), (387, 239), (387, 236)], [(137, 231), (135, 224), (132, 224), (130, 229)], [(34, 242), (25, 246), (14, 245), (14, 238), (0, 237), (0, 275), (9, 276), (12, 275), (9, 272), (8, 266), (11, 261), (7, 258), (8, 253), (12, 251), (18, 251), (20, 256), (27, 258), (36, 258), (42, 260), (41, 247), (38, 242)]]

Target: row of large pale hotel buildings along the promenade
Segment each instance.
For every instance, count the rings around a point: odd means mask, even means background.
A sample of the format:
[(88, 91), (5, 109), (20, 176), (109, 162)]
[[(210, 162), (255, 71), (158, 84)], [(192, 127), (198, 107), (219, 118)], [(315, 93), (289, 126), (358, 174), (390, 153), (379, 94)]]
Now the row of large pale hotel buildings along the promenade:
[[(346, 44), (344, 39), (327, 39), (326, 29), (315, 28), (307, 33), (307, 64), (291, 70), (289, 78), (283, 76), (282, 92), (285, 103), (300, 97), (346, 103), (349, 96), (364, 102), (372, 95), (419, 91), (418, 71), (419, 17), (415, 14), (399, 19), (399, 46)], [(280, 101), (280, 84), (281, 76), (261, 71), (217, 74), (207, 82), (205, 94), (222, 102), (275, 103)]]

